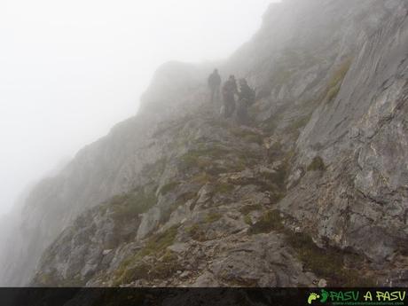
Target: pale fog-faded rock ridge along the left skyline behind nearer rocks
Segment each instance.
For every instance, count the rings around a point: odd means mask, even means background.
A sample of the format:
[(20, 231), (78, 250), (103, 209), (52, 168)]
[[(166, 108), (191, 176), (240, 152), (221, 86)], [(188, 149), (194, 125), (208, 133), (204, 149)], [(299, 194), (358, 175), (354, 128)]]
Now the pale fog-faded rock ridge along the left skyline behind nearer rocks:
[[(177, 62), (160, 67), (151, 85), (158, 90), (145, 92), (137, 116), (117, 124), (109, 135), (83, 148), (58, 176), (35, 186), (22, 209), (20, 224), (2, 247), (0, 285), (26, 284), (45, 247), (76, 216), (137, 184), (144, 165), (160, 159), (162, 144), (151, 139), (158, 124), (189, 114), (200, 106), (203, 98), (197, 79), (204, 77), (201, 74), (199, 68)], [(166, 85), (174, 82), (176, 75), (186, 85), (181, 91)], [(174, 103), (158, 112), (167, 98), (184, 107)]]

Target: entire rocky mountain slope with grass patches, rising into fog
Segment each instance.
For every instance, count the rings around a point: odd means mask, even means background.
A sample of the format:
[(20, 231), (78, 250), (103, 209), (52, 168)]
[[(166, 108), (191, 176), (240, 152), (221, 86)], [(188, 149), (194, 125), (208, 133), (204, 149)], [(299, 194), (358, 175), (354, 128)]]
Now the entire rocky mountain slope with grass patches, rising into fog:
[(406, 285), (407, 58), (404, 0), (272, 4), (219, 66), (256, 88), (251, 127), (208, 105), (210, 67), (161, 67), (135, 118), (31, 193), (1, 279)]

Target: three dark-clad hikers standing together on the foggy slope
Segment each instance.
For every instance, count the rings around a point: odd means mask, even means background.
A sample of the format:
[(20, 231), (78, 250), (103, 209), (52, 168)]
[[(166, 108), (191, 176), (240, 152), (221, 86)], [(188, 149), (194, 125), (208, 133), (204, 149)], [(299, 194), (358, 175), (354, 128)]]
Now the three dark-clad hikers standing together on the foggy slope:
[[(208, 76), (208, 87), (211, 91), (211, 103), (214, 105), (220, 99), (221, 76), (218, 70)], [(239, 79), (239, 88), (234, 75), (230, 75), (224, 82), (223, 88), (223, 106), (220, 113), (224, 118), (230, 118), (236, 111), (237, 120), (240, 124), (248, 124), (247, 107), (255, 102), (255, 90), (249, 87), (247, 80)], [(237, 96), (237, 99), (235, 98)]]

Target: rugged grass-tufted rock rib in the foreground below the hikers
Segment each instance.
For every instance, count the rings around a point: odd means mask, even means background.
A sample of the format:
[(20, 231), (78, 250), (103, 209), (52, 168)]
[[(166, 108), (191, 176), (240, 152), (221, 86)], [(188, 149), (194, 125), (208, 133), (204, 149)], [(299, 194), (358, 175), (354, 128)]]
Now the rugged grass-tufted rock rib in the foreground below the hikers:
[[(262, 131), (206, 114), (179, 123), (156, 136), (172, 143), (164, 160), (144, 169), (149, 181), (77, 219), (46, 252), (35, 284), (310, 286), (318, 280), (302, 271), (281, 234), (263, 233), (279, 226), (270, 219), (280, 223), (270, 210), (282, 197), (285, 154), (273, 152), (270, 163)], [(263, 218), (265, 229), (257, 229)]]

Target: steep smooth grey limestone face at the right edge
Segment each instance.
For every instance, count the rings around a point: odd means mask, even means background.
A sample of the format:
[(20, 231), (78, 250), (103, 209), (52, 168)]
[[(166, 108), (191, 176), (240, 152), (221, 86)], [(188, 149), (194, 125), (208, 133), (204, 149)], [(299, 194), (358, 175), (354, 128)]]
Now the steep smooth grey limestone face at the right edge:
[[(319, 156), (327, 168), (318, 177), (303, 177), (280, 204), (301, 216), (302, 224), (313, 224), (319, 239), (352, 247), (377, 263), (406, 250), (407, 50), (401, 4), (352, 53), (337, 96), (318, 106), (296, 142), (299, 166)], [(305, 199), (305, 192), (310, 200), (295, 200)]]

